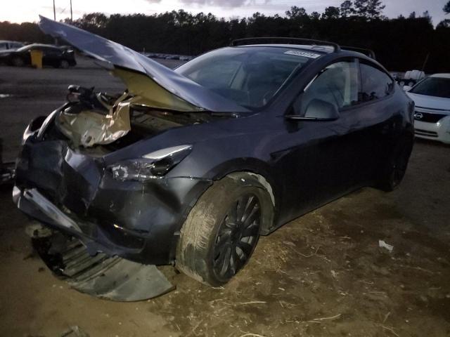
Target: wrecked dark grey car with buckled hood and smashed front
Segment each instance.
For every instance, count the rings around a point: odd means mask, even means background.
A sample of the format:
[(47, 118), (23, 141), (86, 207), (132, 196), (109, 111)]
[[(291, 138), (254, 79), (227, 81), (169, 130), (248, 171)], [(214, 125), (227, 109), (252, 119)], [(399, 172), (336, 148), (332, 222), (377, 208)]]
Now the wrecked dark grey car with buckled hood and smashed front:
[(372, 58), (307, 39), (243, 39), (170, 70), (41, 18), (124, 95), (71, 87), (23, 136), (13, 198), (90, 252), (225, 284), (259, 235), (362, 186), (393, 190), (413, 102)]

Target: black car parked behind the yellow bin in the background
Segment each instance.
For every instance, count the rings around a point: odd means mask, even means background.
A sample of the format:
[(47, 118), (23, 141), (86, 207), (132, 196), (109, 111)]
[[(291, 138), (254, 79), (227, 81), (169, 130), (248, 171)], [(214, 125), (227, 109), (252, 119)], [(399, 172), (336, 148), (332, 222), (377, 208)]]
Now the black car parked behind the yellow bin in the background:
[(29, 44), (14, 51), (0, 51), (0, 63), (15, 65), (16, 67), (31, 65), (31, 51), (34, 50), (42, 52), (42, 65), (44, 66), (65, 69), (77, 65), (75, 53), (72, 49), (60, 48), (50, 44)]

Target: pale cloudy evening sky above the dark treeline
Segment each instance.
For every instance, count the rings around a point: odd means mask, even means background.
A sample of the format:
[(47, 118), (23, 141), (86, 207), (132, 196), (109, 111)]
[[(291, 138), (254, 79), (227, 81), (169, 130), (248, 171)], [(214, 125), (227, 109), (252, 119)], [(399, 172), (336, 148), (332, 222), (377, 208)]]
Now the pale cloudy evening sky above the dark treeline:
[[(70, 0), (56, 1), (56, 19), (60, 20), (70, 16)], [(198, 13), (213, 13), (219, 17), (245, 17), (257, 11), (266, 15), (278, 13), (283, 15), (290, 6), (300, 6), (312, 11), (323, 12), (327, 6), (339, 6), (343, 0), (72, 0), (74, 18), (84, 13), (103, 12), (106, 14), (144, 13), (153, 14), (165, 11), (178, 10)], [(443, 20), (442, 8), (448, 0), (384, 0), (386, 5), (384, 14), (390, 18), (399, 14), (408, 15), (416, 11), (423, 13), (430, 11), (435, 25)], [(24, 22), (37, 21), (38, 14), (53, 18), (52, 0), (13, 0), (8, 6), (2, 6), (0, 21)], [(450, 15), (446, 15), (450, 18)]]

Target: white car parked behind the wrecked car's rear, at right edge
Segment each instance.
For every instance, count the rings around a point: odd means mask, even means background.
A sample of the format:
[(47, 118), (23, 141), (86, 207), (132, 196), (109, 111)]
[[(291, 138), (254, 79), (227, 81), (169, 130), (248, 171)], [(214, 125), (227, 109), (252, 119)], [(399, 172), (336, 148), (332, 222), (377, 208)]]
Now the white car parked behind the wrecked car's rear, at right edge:
[(450, 74), (434, 74), (404, 90), (416, 103), (416, 137), (450, 144)]

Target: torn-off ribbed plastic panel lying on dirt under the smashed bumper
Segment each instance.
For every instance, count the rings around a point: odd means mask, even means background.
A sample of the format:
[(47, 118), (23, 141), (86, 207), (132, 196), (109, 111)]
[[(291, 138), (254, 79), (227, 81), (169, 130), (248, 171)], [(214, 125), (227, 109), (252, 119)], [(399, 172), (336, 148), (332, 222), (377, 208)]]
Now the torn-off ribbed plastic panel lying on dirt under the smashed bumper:
[[(45, 228), (45, 227), (44, 227)], [(174, 290), (174, 286), (155, 265), (141, 265), (103, 253), (89, 255), (84, 244), (58, 231), (44, 236), (36, 227), (32, 244), (56, 276), (82, 293), (132, 302), (155, 298)]]

